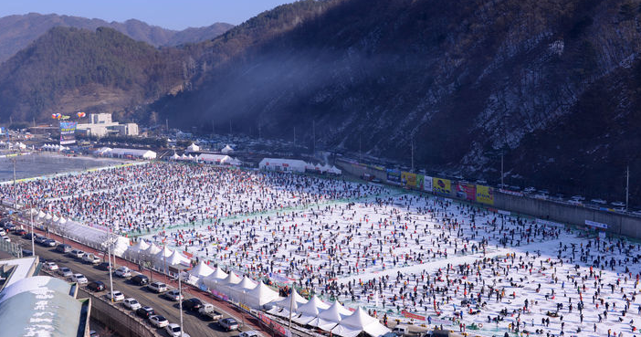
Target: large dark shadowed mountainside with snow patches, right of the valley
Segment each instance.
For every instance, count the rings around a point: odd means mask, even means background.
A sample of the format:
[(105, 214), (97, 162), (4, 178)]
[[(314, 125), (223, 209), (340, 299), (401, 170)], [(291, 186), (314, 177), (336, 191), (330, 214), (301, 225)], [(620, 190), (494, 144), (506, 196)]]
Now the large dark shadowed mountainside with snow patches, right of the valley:
[(493, 182), (504, 153), (508, 184), (566, 193), (621, 198), (625, 165), (641, 173), (636, 1), (307, 3), (234, 53), (234, 29), (205, 43), (206, 79), (152, 110), (407, 165), (414, 143), (417, 167)]

